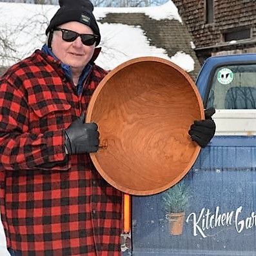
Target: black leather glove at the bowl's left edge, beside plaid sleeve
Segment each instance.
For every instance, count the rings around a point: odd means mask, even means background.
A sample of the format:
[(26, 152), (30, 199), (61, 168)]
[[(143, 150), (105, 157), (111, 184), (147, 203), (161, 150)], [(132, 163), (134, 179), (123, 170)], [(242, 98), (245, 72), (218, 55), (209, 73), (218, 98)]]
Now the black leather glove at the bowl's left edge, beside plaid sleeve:
[(84, 113), (65, 130), (65, 147), (70, 155), (96, 152), (99, 148), (97, 124), (84, 123)]

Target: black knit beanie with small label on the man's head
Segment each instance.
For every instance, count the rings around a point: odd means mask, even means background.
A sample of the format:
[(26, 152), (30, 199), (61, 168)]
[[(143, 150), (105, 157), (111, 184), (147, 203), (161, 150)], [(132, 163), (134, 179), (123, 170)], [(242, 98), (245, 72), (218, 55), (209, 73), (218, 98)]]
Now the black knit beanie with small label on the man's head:
[[(94, 5), (90, 0), (59, 0), (59, 10), (57, 10), (54, 17), (52, 17), (48, 28), (46, 28), (45, 34), (52, 33), (53, 29), (57, 26), (68, 23), (70, 21), (78, 21), (84, 25), (90, 26), (95, 35), (99, 35), (96, 41), (96, 46), (101, 41), (101, 34), (99, 32), (99, 26), (97, 21), (92, 14)], [(51, 44), (52, 36), (48, 37), (48, 45)]]

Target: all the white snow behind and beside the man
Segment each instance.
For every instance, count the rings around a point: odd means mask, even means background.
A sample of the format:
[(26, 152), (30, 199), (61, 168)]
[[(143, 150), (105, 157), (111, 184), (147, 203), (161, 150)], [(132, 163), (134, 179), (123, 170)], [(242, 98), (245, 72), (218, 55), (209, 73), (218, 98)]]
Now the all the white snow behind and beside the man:
[[(6, 37), (12, 48), (16, 49), (14, 57), (23, 59), (30, 55), (36, 48), (46, 42), (44, 34), (46, 27), (55, 14), (59, 6), (53, 5), (30, 5), (22, 3), (0, 3), (0, 31), (1, 36)], [(105, 17), (108, 13), (134, 13), (141, 12), (152, 17), (152, 19), (176, 19), (182, 23), (178, 10), (170, 0), (161, 6), (144, 8), (95, 8), (96, 19)], [(128, 26), (123, 24), (101, 24), (101, 44), (102, 52), (96, 60), (106, 70), (111, 70), (124, 61), (135, 57), (155, 56), (168, 59), (181, 66), (187, 72), (194, 69), (193, 58), (177, 52), (172, 57), (168, 57), (166, 50), (150, 46), (150, 42), (139, 26)], [(21, 30), (21, 31), (19, 31)], [(193, 48), (193, 43), (191, 42)], [(14, 64), (16, 61), (5, 59), (5, 65)], [(0, 223), (0, 255), (9, 255), (6, 251), (5, 234)]]

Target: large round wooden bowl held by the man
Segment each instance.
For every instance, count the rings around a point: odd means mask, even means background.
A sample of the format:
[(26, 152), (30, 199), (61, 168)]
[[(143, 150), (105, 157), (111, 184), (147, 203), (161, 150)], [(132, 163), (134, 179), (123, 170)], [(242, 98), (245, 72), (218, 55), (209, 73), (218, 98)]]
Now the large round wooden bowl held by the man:
[(188, 135), (204, 118), (192, 78), (158, 57), (138, 57), (117, 66), (101, 81), (86, 122), (99, 126), (100, 148), (90, 153), (95, 168), (115, 188), (152, 195), (180, 181), (200, 147)]

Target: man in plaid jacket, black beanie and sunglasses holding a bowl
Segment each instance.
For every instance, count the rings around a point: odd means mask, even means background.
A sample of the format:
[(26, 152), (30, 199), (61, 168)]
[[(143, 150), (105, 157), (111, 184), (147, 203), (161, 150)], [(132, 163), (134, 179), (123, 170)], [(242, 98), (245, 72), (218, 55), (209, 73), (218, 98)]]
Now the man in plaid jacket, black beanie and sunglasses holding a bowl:
[[(121, 255), (122, 193), (95, 170), (97, 124), (84, 115), (106, 75), (89, 0), (60, 0), (47, 45), (0, 80), (1, 218), (11, 255)], [(214, 122), (197, 121), (205, 146)]]

